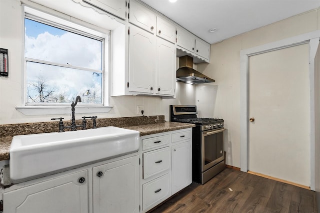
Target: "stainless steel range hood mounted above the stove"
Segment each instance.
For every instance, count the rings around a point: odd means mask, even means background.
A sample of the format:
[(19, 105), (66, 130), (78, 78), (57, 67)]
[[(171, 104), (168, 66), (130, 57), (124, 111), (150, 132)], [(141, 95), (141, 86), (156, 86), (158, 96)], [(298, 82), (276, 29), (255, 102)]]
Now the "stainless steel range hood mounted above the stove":
[(193, 58), (185, 55), (179, 58), (179, 68), (176, 70), (176, 81), (189, 84), (211, 83), (213, 79), (192, 69)]

